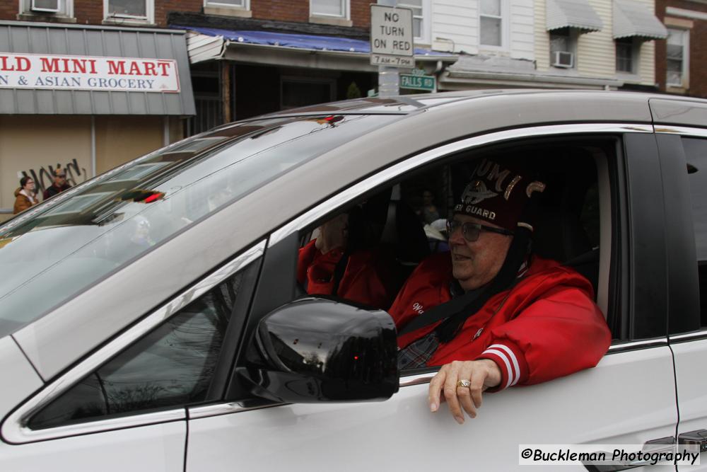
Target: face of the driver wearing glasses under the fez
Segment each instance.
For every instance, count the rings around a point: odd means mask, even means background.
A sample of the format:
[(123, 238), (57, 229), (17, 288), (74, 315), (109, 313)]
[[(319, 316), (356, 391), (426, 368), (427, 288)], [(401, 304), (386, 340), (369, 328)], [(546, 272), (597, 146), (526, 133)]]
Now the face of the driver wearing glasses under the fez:
[[(455, 214), (453, 219), (460, 223), (500, 227), (465, 214)], [(449, 235), (452, 275), (459, 281), (462, 289), (474, 290), (491, 282), (506, 260), (510, 241), (513, 241), (513, 236), (481, 230), (479, 239), (470, 242), (462, 236), (461, 228), (452, 232)]]

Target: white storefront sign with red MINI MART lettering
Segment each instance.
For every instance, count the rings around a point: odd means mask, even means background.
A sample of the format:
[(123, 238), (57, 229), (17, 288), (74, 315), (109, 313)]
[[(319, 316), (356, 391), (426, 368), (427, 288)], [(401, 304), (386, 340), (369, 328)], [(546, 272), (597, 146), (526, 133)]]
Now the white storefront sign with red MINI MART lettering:
[(0, 52), (0, 88), (179, 92), (174, 59)]

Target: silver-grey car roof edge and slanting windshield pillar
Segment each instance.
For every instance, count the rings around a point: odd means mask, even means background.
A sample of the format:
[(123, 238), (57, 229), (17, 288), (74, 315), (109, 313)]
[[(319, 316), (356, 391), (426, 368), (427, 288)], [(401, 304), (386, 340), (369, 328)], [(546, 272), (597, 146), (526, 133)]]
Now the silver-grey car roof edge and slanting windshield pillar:
[[(613, 91), (464, 91), (349, 100), (268, 115), (392, 113), (400, 119), (262, 185), (14, 337), (37, 372), (49, 379), (173, 297), (189, 277), (208, 273), (351, 183), (407, 156), (501, 129), (580, 122), (650, 125), (649, 102), (655, 102), (663, 124), (707, 124), (707, 100)], [(189, 272), (181, 276), (185, 267)], [(172, 274), (180, 276), (165, 277)], [(149, 287), (144, 280), (151, 281)]]

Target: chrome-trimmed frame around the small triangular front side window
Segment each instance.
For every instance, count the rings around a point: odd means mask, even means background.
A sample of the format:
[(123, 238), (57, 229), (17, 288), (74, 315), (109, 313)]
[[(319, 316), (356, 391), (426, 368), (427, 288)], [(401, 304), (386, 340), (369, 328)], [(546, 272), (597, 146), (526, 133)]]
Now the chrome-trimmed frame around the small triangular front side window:
[[(190, 284), (188, 287), (185, 287), (185, 289), (182, 289), (177, 296), (142, 317), (130, 328), (124, 330), (123, 333), (117, 334), (110, 342), (100, 347), (97, 351), (93, 352), (93, 354), (82, 359), (73, 368), (57, 377), (57, 379), (45, 384), (40, 391), (35, 393), (5, 418), (0, 426), (2, 437), (6, 442), (11, 444), (25, 444), (45, 441), (47, 439), (61, 439), (80, 434), (91, 434), (129, 427), (153, 425), (156, 423), (186, 420), (189, 405), (170, 406), (160, 410), (138, 410), (112, 418), (87, 418), (86, 422), (42, 428), (40, 430), (33, 430), (27, 425), (28, 420), (35, 413), (69, 391), (74, 385), (81, 381), (81, 379), (92, 374), (97, 369), (100, 369), (100, 367), (110, 359), (144, 338), (145, 335), (151, 333), (154, 328), (160, 326), (166, 319), (176, 316), (180, 313), (180, 310), (191, 301), (198, 299), (209, 292), (209, 290), (218, 286), (218, 284), (227, 280), (228, 277), (235, 275), (241, 270), (247, 272), (245, 279), (250, 283), (243, 284), (241, 287), (243, 292), (247, 292), (247, 296), (237, 297), (233, 309), (236, 310), (239, 307), (245, 307), (247, 310), (255, 292), (254, 285), (260, 270), (263, 255), (266, 251), (266, 246), (267, 241), (262, 240), (246, 248), (225, 264), (209, 272), (205, 277), (194, 284)], [(247, 299), (247, 301), (239, 302), (238, 299), (240, 298)], [(225, 385), (225, 379), (228, 378), (228, 373), (231, 368), (228, 355), (233, 355), (235, 343), (237, 343), (239, 338), (238, 333), (240, 332), (238, 326), (234, 327), (234, 325), (240, 324), (240, 326), (243, 326), (244, 317), (245, 313), (233, 313), (233, 318), (228, 324), (224, 343), (218, 355), (218, 367), (209, 386), (209, 392), (207, 393), (207, 402), (218, 401), (223, 398), (223, 386)]]

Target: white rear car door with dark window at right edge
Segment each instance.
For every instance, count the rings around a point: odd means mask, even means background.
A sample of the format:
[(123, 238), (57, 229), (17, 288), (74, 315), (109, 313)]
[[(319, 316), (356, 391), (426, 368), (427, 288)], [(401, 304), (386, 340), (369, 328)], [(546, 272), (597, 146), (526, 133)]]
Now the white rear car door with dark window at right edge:
[[(670, 238), (670, 347), (680, 421), (678, 439), (700, 444), (707, 439), (707, 132), (696, 128), (661, 127), (658, 146), (663, 168)], [(704, 448), (702, 449), (704, 450)], [(707, 453), (700, 466), (707, 470)]]

